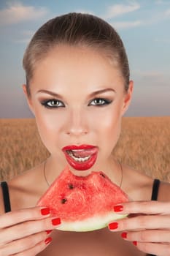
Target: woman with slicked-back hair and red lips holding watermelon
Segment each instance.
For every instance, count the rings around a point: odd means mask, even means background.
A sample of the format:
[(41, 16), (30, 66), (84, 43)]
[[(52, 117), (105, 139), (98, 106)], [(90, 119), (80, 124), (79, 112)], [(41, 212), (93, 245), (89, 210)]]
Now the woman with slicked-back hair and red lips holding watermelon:
[[(133, 92), (117, 32), (93, 15), (62, 15), (36, 31), (23, 67), (23, 91), (50, 157), (9, 181), (9, 202), (3, 184), (0, 255), (170, 255), (170, 185), (112, 157)], [(96, 159), (89, 162), (90, 151), (87, 159), (63, 154), (72, 145), (96, 148)], [(113, 210), (129, 218), (87, 233), (55, 230), (62, 219), (36, 203), (68, 163), (76, 175), (104, 171), (132, 199)]]

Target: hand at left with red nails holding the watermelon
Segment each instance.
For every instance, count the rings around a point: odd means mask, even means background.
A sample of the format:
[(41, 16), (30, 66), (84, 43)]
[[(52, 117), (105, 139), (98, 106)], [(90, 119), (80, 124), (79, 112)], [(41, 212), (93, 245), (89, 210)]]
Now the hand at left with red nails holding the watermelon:
[(0, 255), (33, 256), (46, 248), (60, 219), (48, 208), (35, 207), (11, 211), (0, 216)]

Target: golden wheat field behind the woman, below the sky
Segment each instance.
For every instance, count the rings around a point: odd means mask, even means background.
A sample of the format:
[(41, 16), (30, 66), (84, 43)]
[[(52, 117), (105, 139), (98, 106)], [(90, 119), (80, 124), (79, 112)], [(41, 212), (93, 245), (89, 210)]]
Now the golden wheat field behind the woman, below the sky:
[[(137, 170), (170, 181), (170, 117), (124, 117), (113, 154)], [(0, 180), (23, 173), (48, 155), (34, 119), (0, 119)]]

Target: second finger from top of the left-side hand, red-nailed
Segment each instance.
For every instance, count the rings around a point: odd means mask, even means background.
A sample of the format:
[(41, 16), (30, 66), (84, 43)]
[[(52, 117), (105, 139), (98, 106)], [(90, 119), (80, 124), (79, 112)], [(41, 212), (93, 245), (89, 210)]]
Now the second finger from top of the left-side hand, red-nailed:
[(19, 225), (4, 228), (0, 231), (1, 244), (7, 244), (10, 241), (30, 236), (34, 233), (39, 233), (45, 230), (53, 230), (60, 224), (61, 220), (59, 218), (48, 217), (46, 219), (23, 222)]

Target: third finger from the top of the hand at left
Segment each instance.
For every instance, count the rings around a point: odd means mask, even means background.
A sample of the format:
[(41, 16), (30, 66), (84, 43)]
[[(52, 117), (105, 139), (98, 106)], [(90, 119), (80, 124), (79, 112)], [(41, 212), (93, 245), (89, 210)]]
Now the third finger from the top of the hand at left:
[(44, 241), (47, 238), (46, 232), (36, 233), (32, 236), (28, 236), (26, 238), (22, 238), (16, 241), (12, 241), (5, 246), (1, 246), (0, 255), (13, 255), (18, 252), (23, 252), (26, 249), (32, 248), (39, 244), (40, 242)]

